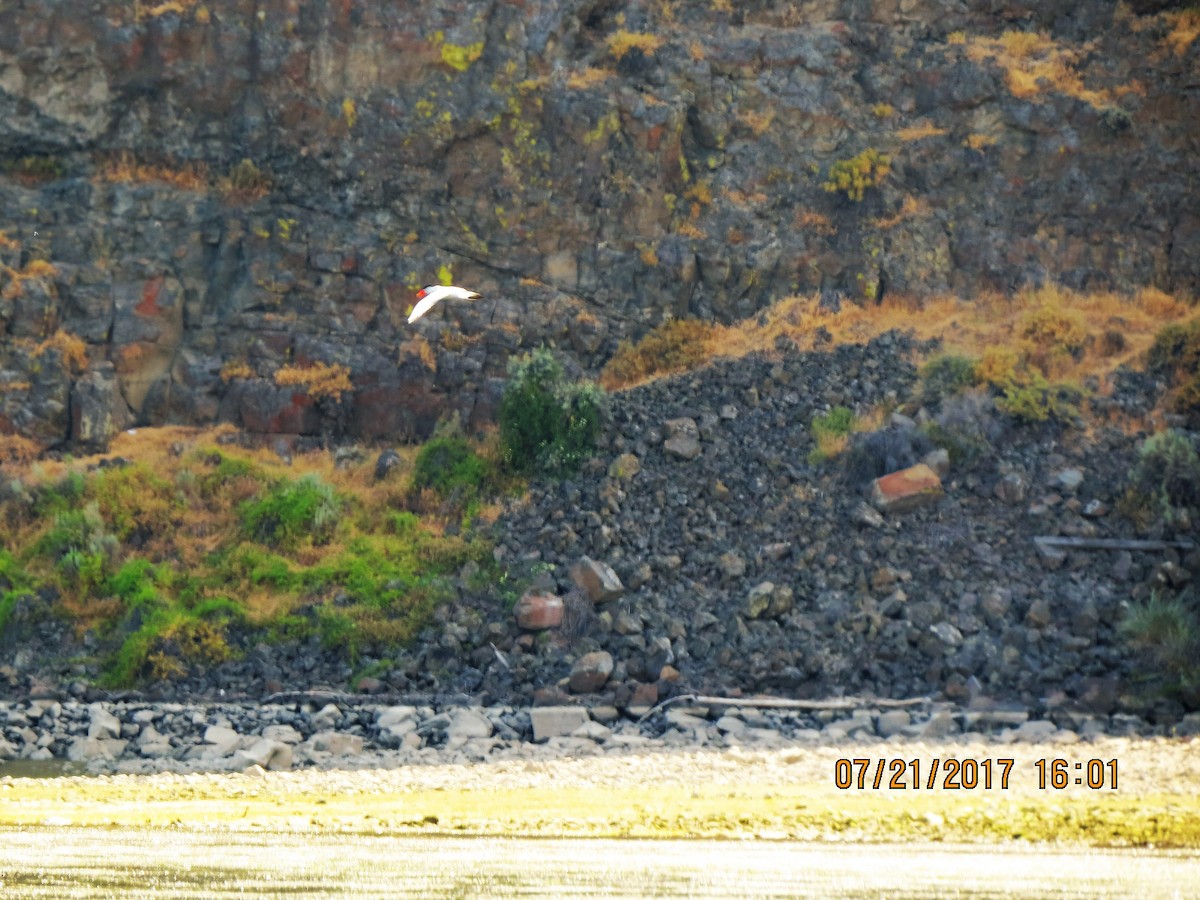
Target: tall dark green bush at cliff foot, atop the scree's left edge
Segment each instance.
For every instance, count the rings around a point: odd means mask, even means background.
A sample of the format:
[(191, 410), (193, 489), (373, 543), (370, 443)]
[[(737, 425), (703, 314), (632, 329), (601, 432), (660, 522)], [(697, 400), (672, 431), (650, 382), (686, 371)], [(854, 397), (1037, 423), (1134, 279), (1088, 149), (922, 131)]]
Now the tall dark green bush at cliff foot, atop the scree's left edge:
[(509, 361), (500, 400), (504, 461), (515, 472), (560, 474), (595, 452), (607, 403), (590, 382), (571, 384), (547, 349)]

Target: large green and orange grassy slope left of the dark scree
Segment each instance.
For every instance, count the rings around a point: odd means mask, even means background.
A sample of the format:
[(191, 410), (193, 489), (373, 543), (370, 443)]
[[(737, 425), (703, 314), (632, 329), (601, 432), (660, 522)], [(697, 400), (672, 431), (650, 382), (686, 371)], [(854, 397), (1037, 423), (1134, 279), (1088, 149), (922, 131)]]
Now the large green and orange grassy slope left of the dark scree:
[[(500, 482), (492, 463), (439, 437), (418, 482), (478, 508)], [(64, 628), (92, 634), (89, 664), (108, 688), (187, 677), (264, 640), (316, 636), (353, 660), (410, 642), (456, 595), (462, 566), (491, 560), (469, 528), (444, 534), (444, 516), (406, 509), (412, 484), (379, 485), (324, 456), (280, 474), (256, 452), (78, 467), (0, 500), (14, 523), (0, 625), (42, 592)]]

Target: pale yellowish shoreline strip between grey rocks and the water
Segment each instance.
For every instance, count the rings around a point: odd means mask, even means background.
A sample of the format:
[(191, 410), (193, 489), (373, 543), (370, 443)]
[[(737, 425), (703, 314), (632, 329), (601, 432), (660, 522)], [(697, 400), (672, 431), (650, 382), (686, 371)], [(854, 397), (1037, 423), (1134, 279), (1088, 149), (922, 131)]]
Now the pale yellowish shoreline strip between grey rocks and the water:
[[(870, 761), (863, 790), (857, 784), (838, 787), (839, 760)], [(947, 767), (949, 760), (958, 761), (960, 773), (965, 761), (980, 773), (991, 761), (991, 788), (982, 775), (973, 790), (947, 787), (943, 778), (930, 788), (934, 760), (943, 773), (955, 768)], [(1039, 760), (1048, 761), (1044, 787)], [(1063, 760), (1069, 773), (1062, 790), (1050, 785), (1054, 760)], [(1090, 760), (1099, 761), (1105, 778), (1116, 769), (1116, 790), (1086, 786)], [(876, 790), (880, 761), (884, 775)], [(844, 763), (841, 773), (857, 779), (862, 767), (851, 766)], [(914, 769), (923, 773), (919, 781)], [(896, 772), (905, 786), (888, 787)], [(1084, 784), (1074, 784), (1076, 772)], [(1102, 774), (1097, 764), (1091, 772)], [(1070, 746), (875, 742), (395, 768), (4, 778), (0, 800), (0, 828), (1032, 840), (1200, 848), (1196, 742), (1165, 738), (1104, 738)]]

